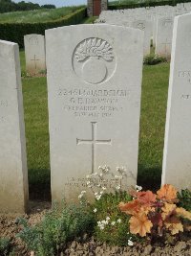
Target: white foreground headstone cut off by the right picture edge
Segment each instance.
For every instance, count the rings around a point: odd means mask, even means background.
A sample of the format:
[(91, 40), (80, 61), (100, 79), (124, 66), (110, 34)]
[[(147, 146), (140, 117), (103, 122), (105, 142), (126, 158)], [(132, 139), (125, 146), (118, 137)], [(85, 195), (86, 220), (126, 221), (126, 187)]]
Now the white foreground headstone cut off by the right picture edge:
[(191, 14), (175, 18), (162, 184), (191, 189)]

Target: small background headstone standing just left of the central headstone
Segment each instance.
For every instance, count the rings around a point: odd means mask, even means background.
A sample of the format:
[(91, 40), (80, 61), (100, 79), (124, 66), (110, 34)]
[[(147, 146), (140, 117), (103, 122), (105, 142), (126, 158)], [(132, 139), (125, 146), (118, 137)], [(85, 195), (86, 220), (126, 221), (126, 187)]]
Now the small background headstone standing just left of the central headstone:
[(44, 35), (25, 35), (26, 70), (31, 74), (46, 70)]

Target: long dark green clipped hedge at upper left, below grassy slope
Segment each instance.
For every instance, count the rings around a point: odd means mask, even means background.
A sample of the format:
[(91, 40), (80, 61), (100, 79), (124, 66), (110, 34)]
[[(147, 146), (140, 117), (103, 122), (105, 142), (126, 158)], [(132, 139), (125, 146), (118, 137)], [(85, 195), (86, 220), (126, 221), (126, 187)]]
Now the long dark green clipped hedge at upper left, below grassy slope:
[(86, 17), (86, 15), (86, 8), (81, 8), (75, 12), (65, 15), (64, 17), (46, 22), (38, 21), (35, 23), (0, 23), (1, 39), (16, 42), (21, 48), (23, 48), (24, 35), (44, 35), (45, 30), (48, 29), (78, 24)]

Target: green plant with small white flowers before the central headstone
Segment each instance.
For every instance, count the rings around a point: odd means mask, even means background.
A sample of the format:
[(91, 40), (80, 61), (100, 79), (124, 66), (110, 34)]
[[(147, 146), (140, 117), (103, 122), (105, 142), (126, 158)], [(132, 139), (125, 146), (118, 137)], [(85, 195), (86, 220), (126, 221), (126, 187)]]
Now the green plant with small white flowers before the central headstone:
[[(108, 166), (99, 166), (98, 173), (87, 175), (87, 187), (92, 190), (95, 197), (94, 203), (88, 203), (86, 191), (79, 195), (81, 204), (88, 205), (90, 212), (94, 213), (96, 226), (95, 236), (97, 241), (115, 245), (133, 245), (138, 238), (129, 233), (128, 219), (117, 207), (121, 200), (129, 201), (132, 197), (122, 191), (122, 180), (134, 178), (131, 172), (124, 167), (117, 167), (114, 174)], [(108, 180), (110, 180), (108, 182)]]

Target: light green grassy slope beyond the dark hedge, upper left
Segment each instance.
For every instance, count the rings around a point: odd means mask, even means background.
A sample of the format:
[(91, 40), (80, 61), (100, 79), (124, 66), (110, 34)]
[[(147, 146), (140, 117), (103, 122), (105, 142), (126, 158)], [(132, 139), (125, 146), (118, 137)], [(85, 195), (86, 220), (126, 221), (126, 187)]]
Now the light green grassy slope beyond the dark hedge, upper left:
[(80, 9), (77, 7), (63, 7), (57, 9), (34, 10), (28, 12), (6, 12), (0, 14), (0, 23), (36, 23), (60, 19), (71, 12)]

